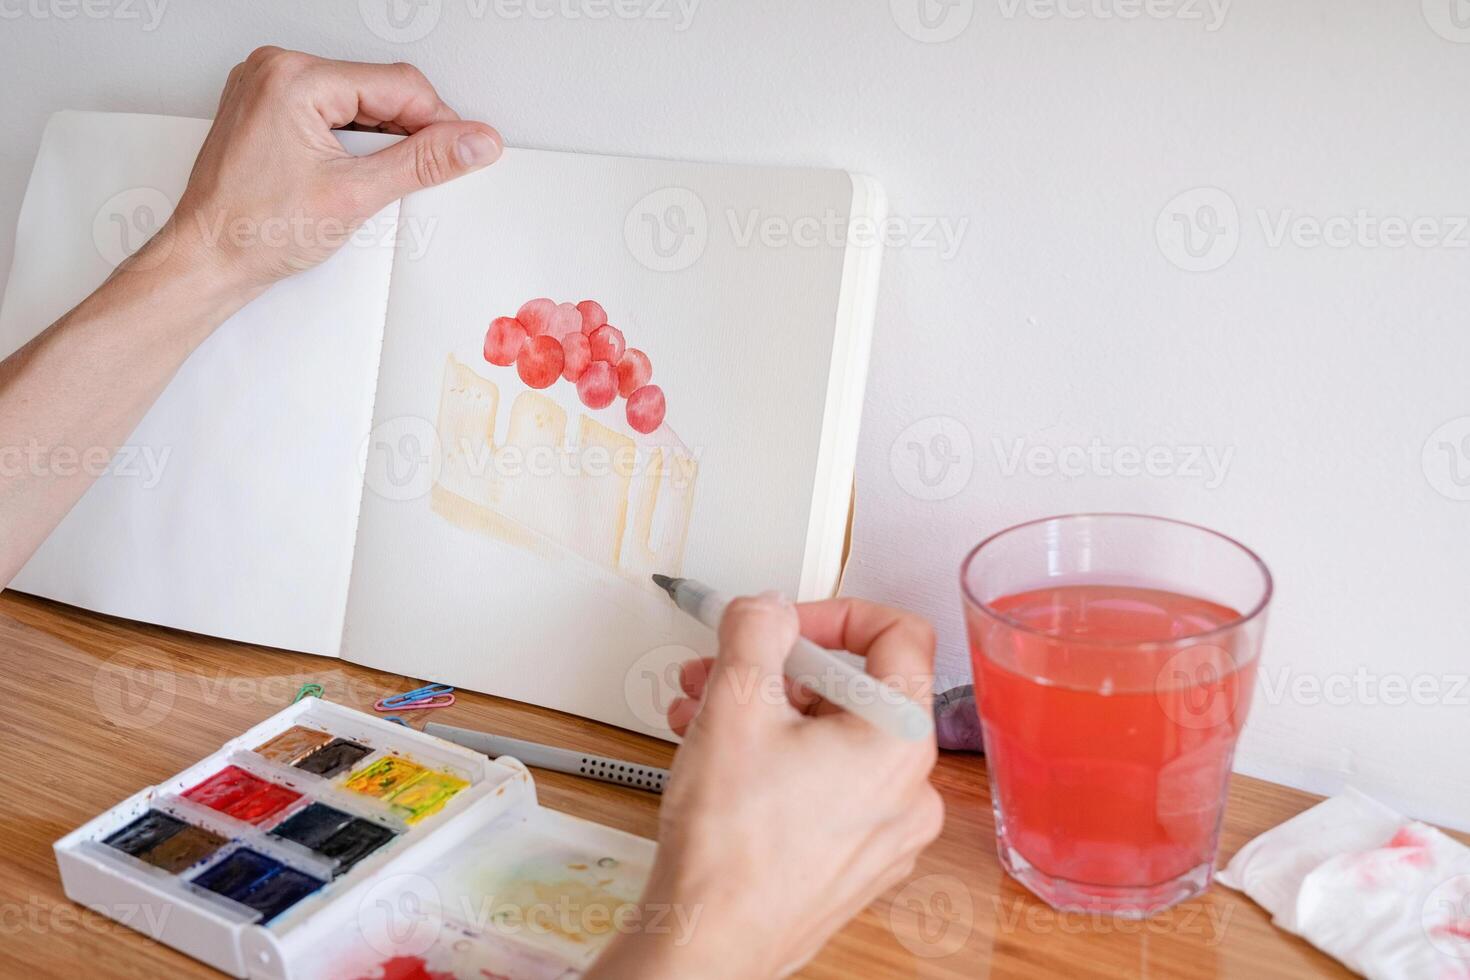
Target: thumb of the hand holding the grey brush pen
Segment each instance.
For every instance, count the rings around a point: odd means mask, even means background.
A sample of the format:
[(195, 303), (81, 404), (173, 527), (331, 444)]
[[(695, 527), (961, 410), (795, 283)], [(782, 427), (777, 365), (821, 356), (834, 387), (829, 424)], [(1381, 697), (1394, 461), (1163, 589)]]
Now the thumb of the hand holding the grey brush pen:
[(700, 717), (714, 724), (797, 717), (781, 669), (800, 632), (795, 607), (773, 592), (732, 601), (720, 620), (720, 652)]

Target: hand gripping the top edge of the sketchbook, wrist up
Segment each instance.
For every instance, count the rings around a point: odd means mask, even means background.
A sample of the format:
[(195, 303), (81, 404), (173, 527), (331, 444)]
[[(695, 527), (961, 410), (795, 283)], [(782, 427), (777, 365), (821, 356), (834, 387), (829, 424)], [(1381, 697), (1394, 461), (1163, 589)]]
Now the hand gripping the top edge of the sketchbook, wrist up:
[[(354, 157), (331, 132), (347, 125), (407, 138)], [(188, 187), (146, 248), (243, 304), (325, 260), (391, 201), (500, 153), (500, 134), (462, 120), (412, 65), (262, 47), (229, 72)]]

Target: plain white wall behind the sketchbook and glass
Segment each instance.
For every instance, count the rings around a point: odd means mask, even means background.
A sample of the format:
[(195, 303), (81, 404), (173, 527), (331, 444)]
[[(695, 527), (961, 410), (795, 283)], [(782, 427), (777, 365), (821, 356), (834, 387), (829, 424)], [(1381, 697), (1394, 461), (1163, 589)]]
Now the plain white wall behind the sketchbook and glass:
[[(366, 26), (391, 34), (385, 1), (0, 0), (0, 269), (47, 113), (210, 115), (263, 43), (416, 62), (514, 144), (864, 170), (910, 223), (850, 591), (933, 616), (958, 680), (956, 566), (982, 535), (1080, 508), (1208, 523), (1279, 580), (1239, 767), (1470, 827), (1470, 4), (397, 0), (434, 26), (394, 43)], [(1226, 234), (1191, 259), (1173, 213), (1201, 206)], [(1423, 219), (1420, 241), (1310, 238), (1360, 213)], [(939, 430), (931, 488), (904, 447)], [(1183, 472), (1010, 467), (1017, 439)]]

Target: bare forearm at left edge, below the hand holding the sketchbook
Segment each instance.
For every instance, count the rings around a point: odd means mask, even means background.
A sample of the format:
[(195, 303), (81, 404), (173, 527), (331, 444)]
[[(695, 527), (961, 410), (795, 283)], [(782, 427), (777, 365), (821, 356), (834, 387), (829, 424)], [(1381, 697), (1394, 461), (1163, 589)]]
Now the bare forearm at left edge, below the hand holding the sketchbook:
[(251, 292), (173, 228), (0, 361), (0, 586), (66, 516), (179, 364)]

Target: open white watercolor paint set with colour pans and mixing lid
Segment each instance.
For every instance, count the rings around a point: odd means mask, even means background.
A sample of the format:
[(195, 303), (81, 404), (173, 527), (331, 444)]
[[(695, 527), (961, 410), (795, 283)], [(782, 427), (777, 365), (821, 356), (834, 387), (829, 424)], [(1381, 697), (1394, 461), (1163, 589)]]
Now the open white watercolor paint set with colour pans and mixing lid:
[(654, 843), (526, 767), (304, 698), (56, 842), (66, 895), (237, 977), (576, 977)]

